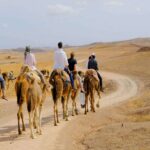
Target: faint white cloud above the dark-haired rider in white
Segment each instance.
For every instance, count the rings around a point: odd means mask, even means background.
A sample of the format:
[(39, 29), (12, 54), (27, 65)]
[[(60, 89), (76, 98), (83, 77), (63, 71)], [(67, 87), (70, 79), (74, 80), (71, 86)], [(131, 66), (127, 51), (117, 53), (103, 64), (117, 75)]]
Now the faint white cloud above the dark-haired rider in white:
[(62, 4), (48, 5), (48, 12), (50, 15), (72, 15), (78, 13), (73, 7)]

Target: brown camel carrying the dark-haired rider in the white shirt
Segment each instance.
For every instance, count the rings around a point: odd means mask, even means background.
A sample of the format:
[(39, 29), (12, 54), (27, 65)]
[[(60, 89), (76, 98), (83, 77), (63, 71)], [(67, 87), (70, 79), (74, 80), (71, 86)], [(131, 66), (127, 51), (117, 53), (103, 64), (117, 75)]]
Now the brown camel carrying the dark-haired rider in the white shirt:
[(55, 69), (50, 75), (49, 79), (52, 85), (52, 98), (54, 101), (54, 125), (57, 126), (59, 123), (58, 118), (58, 102), (61, 100), (63, 108), (63, 119), (68, 120), (68, 100), (71, 94), (71, 83), (69, 81), (68, 74), (61, 70)]

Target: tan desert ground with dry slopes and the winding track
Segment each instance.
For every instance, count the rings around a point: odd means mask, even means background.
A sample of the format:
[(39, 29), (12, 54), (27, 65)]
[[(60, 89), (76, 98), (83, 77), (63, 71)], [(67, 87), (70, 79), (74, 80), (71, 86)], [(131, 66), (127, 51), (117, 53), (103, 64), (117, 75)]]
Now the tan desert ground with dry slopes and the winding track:
[[(149, 44), (149, 43), (148, 43)], [(53, 102), (47, 95), (43, 107), (43, 134), (30, 138), (26, 106), (27, 130), (17, 134), (17, 103), (14, 82), (7, 90), (9, 101), (0, 99), (0, 149), (2, 150), (149, 150), (150, 149), (150, 48), (145, 40), (94, 43), (65, 48), (69, 57), (75, 52), (78, 68), (86, 69), (93, 52), (104, 79), (100, 108), (84, 115), (78, 100), (78, 116), (61, 119), (53, 126)], [(37, 67), (52, 71), (53, 51), (37, 52)], [(23, 64), (23, 52), (0, 52), (2, 71), (13, 70), (17, 76)], [(71, 110), (71, 104), (69, 105)], [(59, 106), (62, 118), (62, 109)]]

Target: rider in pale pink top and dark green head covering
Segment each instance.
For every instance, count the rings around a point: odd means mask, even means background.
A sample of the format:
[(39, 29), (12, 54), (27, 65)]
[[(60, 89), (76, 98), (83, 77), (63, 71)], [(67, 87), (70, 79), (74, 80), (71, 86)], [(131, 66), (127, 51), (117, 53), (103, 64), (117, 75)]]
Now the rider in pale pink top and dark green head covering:
[(42, 83), (46, 84), (43, 74), (36, 68), (35, 56), (33, 53), (31, 53), (31, 49), (28, 46), (26, 47), (25, 53), (24, 53), (24, 64), (28, 65), (32, 71), (35, 71), (40, 77)]

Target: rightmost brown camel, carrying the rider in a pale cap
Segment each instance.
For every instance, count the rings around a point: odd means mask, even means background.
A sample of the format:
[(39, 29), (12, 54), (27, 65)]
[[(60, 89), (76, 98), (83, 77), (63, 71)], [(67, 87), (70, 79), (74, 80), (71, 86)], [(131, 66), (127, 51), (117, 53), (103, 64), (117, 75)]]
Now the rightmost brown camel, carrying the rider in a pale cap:
[(88, 69), (85, 72), (83, 87), (85, 90), (85, 114), (88, 112), (88, 100), (91, 103), (91, 111), (95, 112), (95, 92), (97, 92), (99, 99), (96, 104), (99, 107), (100, 90), (99, 90), (99, 79), (97, 73), (93, 69)]

